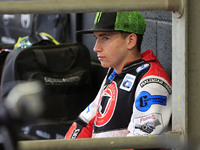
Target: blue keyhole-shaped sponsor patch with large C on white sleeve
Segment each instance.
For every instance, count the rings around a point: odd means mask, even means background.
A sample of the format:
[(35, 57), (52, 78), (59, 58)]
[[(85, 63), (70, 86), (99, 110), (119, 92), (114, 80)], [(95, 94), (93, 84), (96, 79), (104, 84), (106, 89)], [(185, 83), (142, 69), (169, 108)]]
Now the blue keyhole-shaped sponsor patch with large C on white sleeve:
[(167, 97), (161, 95), (151, 95), (146, 91), (141, 92), (136, 99), (136, 108), (140, 111), (147, 111), (151, 105), (159, 104), (166, 106)]

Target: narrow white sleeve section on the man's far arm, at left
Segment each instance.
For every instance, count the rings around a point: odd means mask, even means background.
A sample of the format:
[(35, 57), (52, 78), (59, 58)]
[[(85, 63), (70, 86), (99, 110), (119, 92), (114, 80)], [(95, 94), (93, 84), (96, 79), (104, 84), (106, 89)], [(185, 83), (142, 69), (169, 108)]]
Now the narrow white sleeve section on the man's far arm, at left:
[(99, 102), (99, 99), (100, 99), (101, 92), (103, 90), (104, 84), (106, 82), (106, 78), (107, 77), (104, 78), (96, 98), (79, 115), (79, 118), (82, 119), (83, 121), (85, 121), (86, 123), (89, 123), (90, 120), (96, 115), (98, 102)]

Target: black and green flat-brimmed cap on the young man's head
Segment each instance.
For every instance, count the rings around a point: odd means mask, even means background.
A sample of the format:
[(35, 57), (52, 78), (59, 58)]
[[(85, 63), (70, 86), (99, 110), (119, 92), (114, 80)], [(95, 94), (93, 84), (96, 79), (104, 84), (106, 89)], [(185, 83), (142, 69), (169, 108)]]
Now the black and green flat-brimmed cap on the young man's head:
[(143, 35), (146, 22), (138, 11), (97, 12), (94, 27), (78, 33), (124, 31)]

